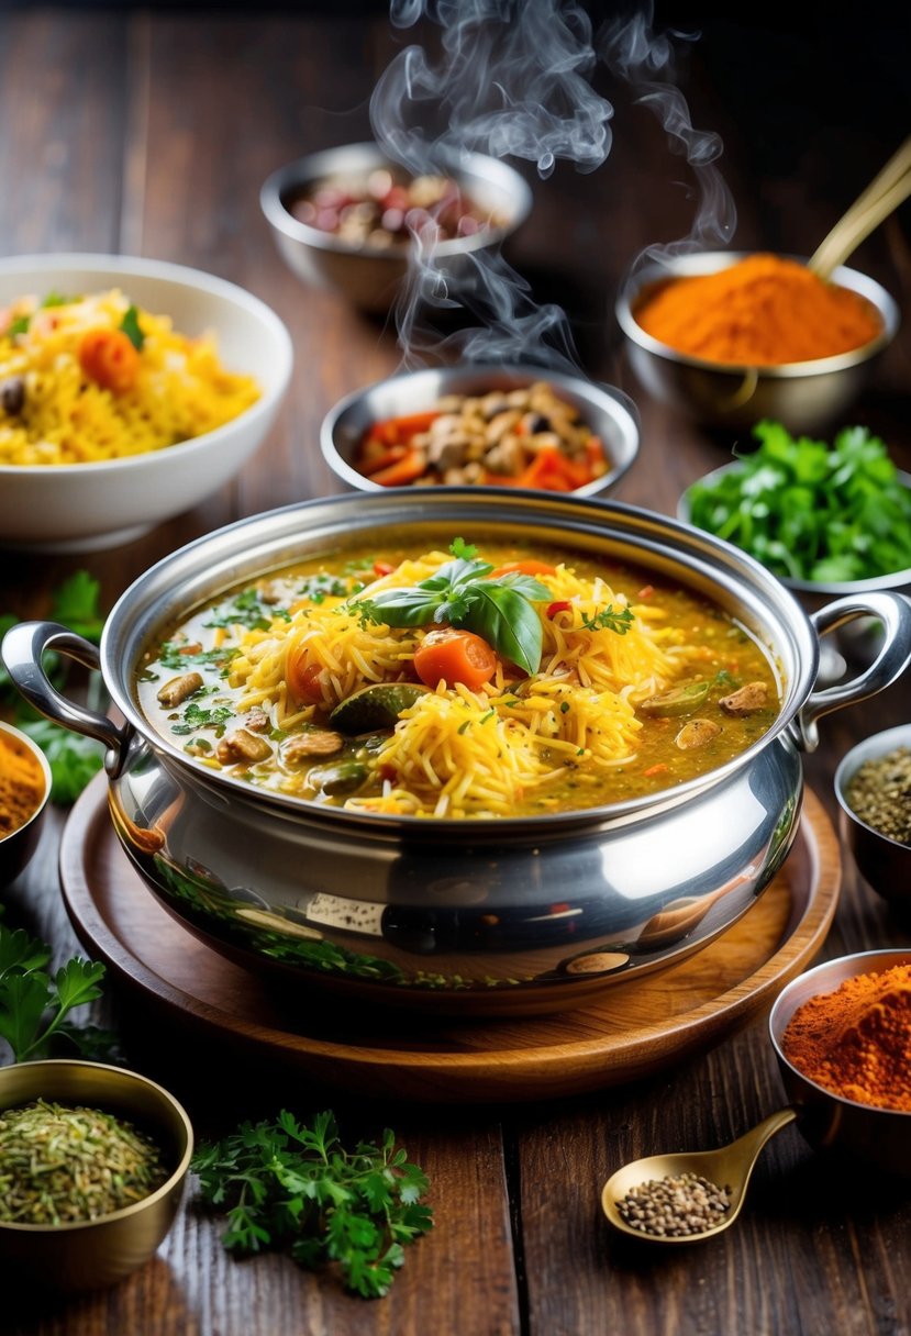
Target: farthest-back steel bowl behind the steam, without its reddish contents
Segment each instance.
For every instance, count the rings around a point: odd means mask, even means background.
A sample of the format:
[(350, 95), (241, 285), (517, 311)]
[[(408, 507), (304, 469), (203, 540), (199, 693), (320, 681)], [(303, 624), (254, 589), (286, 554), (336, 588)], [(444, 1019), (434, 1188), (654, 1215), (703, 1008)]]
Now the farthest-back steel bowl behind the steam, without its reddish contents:
[[(313, 287), (333, 289), (354, 306), (374, 314), (387, 311), (395, 299), (407, 273), (410, 244), (393, 244), (385, 250), (358, 248), (331, 232), (299, 222), (287, 206), (318, 180), (337, 175), (367, 176), (377, 167), (386, 166), (387, 158), (374, 143), (326, 148), (279, 167), (259, 194), (279, 254), (291, 273)], [(504, 219), (500, 227), (439, 243), (435, 261), (449, 271), (458, 271), (466, 257), (501, 244), (525, 222), (532, 208), (532, 190), (513, 167), (484, 154), (462, 154), (447, 163), (446, 170), (481, 208)]]

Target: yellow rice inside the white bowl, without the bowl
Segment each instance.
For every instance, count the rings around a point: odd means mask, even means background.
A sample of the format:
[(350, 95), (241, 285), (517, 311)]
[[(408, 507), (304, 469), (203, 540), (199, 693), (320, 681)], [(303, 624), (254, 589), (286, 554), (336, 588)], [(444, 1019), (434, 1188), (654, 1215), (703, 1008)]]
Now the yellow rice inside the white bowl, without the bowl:
[[(87, 374), (80, 345), (124, 318), (135, 318), (142, 347), (134, 383), (115, 393)], [(43, 303), (23, 297), (0, 313), (0, 465), (146, 454), (223, 426), (260, 395), (252, 377), (222, 366), (212, 333), (187, 338), (119, 289)]]

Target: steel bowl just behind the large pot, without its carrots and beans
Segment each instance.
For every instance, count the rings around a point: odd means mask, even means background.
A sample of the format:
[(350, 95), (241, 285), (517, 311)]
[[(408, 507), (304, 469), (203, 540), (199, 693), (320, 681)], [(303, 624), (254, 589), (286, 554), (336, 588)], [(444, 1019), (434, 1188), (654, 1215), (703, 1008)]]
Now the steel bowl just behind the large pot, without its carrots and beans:
[(323, 418), (319, 445), (335, 477), (358, 492), (383, 492), (354, 468), (363, 433), (383, 418), (431, 409), (443, 394), (486, 394), (514, 390), (546, 381), (554, 393), (572, 403), (601, 440), (609, 458), (608, 472), (578, 488), (576, 496), (606, 496), (620, 482), (639, 454), (639, 413), (620, 390), (536, 366), (447, 366), (405, 371), (355, 390)]

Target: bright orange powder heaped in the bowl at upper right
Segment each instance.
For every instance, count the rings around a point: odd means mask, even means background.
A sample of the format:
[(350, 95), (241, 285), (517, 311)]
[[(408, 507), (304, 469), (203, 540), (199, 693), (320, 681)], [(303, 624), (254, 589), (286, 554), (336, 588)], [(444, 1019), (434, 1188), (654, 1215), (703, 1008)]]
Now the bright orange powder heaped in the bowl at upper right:
[(671, 279), (633, 314), (647, 334), (677, 353), (745, 366), (848, 353), (883, 327), (879, 311), (858, 293), (768, 254)]

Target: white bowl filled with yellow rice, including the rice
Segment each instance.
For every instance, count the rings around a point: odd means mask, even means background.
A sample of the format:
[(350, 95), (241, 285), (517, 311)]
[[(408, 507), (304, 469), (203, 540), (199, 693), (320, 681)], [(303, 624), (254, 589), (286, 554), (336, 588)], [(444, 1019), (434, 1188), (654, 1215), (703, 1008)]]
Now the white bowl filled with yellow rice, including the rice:
[(211, 274), (0, 259), (0, 544), (111, 546), (191, 509), (262, 444), (291, 365), (282, 321)]

